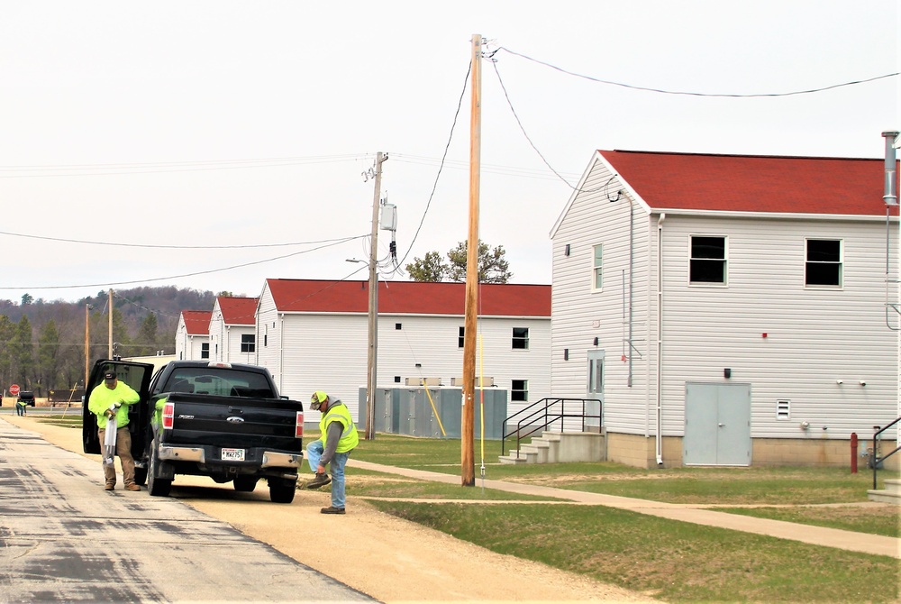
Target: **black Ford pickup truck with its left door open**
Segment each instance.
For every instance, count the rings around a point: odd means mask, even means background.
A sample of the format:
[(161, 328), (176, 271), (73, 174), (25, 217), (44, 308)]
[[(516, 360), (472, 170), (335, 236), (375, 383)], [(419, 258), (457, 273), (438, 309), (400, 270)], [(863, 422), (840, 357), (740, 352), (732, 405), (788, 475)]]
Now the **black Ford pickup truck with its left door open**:
[[(176, 474), (232, 481), (251, 491), (264, 478), (269, 499), (291, 503), (303, 461), (304, 407), (278, 396), (268, 370), (255, 365), (170, 361), (153, 366), (97, 361), (85, 400), (113, 369), (141, 402), (129, 408), (135, 480), (166, 496)], [(85, 453), (100, 453), (96, 416), (85, 403)]]

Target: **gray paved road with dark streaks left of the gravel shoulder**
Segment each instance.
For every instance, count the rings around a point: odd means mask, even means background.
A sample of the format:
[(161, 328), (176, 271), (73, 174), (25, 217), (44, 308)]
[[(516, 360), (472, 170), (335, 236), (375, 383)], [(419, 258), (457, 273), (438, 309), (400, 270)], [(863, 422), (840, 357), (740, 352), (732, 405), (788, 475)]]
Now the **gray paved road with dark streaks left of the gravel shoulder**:
[(0, 601), (372, 601), (175, 499), (107, 492), (102, 478), (96, 462), (0, 422)]

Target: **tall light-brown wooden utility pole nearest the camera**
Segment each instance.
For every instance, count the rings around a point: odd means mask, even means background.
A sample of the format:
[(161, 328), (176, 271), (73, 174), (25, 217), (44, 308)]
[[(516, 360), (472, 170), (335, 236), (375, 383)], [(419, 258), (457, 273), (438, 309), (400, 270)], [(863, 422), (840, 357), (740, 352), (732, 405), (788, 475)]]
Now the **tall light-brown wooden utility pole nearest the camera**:
[(463, 320), (463, 409), (460, 419), (460, 484), (476, 484), (473, 432), (478, 315), (478, 184), (482, 137), (482, 36), (472, 36), (472, 100), (469, 105), (469, 239), (466, 247), (466, 314)]

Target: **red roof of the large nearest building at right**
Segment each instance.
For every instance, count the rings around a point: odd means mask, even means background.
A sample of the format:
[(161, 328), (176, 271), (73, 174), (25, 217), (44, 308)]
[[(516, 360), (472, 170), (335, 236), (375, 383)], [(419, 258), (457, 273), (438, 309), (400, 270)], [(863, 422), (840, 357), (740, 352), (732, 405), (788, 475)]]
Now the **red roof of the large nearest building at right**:
[(886, 215), (884, 159), (598, 152), (654, 209)]

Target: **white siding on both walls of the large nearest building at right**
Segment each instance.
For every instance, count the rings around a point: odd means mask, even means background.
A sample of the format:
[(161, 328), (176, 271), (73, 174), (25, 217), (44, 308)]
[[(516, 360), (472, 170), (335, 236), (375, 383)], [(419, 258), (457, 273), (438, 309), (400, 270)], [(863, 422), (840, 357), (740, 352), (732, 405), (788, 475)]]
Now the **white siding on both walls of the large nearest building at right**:
[[(553, 395), (584, 397), (587, 350), (605, 350), (605, 425), (656, 434), (657, 215), (633, 202), (633, 385), (628, 386), (629, 207), (597, 162), (553, 241)], [(609, 181), (609, 182), (608, 182)], [(606, 186), (605, 186), (606, 185)], [(847, 438), (897, 416), (897, 334), (886, 321), (886, 226), (873, 221), (667, 215), (662, 224), (663, 435), (682, 435), (687, 381), (751, 383), (753, 437)], [(689, 236), (728, 238), (727, 287), (688, 285)], [(804, 288), (805, 237), (841, 239), (843, 288)], [(592, 246), (604, 288), (591, 290)], [(564, 255), (569, 244), (569, 256)], [(897, 274), (896, 263), (891, 274)], [(624, 271), (624, 273), (623, 273)], [(623, 274), (625, 287), (623, 288)], [(892, 285), (888, 299), (896, 298)], [(892, 325), (898, 324), (894, 311)], [(766, 333), (767, 337), (762, 337)], [(563, 360), (569, 349), (569, 361)], [(724, 378), (724, 369), (732, 378)], [(844, 383), (839, 385), (836, 380)], [(859, 380), (865, 380), (862, 387)], [(777, 421), (776, 401), (791, 401)], [(811, 423), (802, 433), (801, 421)], [(824, 429), (825, 428), (825, 429)]]

